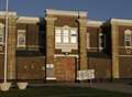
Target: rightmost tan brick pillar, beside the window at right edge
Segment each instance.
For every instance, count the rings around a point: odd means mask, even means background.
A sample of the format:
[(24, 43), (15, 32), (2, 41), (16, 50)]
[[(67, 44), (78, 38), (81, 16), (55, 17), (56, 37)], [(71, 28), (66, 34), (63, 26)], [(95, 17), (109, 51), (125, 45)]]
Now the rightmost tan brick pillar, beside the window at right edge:
[(118, 29), (114, 23), (111, 25), (111, 40), (112, 40), (112, 78), (119, 78), (119, 35)]

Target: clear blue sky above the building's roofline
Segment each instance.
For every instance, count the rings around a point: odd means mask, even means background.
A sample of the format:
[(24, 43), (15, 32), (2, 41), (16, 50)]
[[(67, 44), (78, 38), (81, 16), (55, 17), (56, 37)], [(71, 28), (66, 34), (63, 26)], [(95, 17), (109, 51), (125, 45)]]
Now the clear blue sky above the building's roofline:
[[(0, 0), (0, 10), (6, 0)], [(87, 11), (88, 19), (132, 19), (132, 0), (9, 0), (9, 9), (19, 15), (44, 17), (46, 9)]]

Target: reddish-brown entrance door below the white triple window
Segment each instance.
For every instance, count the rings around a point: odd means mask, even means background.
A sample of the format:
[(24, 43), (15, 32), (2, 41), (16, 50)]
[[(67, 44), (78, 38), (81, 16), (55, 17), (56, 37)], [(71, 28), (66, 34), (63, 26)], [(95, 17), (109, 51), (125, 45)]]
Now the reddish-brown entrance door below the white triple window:
[(56, 57), (55, 75), (58, 82), (75, 82), (75, 58)]

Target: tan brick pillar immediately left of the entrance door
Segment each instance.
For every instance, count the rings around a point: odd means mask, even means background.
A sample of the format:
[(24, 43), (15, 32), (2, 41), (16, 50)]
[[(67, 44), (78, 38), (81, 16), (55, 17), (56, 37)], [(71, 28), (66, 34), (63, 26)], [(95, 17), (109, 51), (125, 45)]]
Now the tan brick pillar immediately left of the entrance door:
[[(54, 22), (56, 18), (45, 18), (46, 20), (46, 78), (54, 77)], [(52, 69), (48, 66), (53, 65)]]

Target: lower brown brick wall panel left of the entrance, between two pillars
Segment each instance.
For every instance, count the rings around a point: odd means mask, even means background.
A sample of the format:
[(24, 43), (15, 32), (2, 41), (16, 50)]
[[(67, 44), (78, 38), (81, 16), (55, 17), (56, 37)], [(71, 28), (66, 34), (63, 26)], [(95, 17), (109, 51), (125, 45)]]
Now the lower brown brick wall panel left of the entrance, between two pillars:
[(45, 79), (44, 57), (18, 57), (18, 79)]

